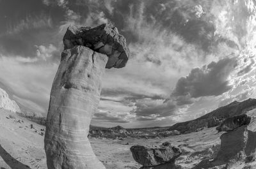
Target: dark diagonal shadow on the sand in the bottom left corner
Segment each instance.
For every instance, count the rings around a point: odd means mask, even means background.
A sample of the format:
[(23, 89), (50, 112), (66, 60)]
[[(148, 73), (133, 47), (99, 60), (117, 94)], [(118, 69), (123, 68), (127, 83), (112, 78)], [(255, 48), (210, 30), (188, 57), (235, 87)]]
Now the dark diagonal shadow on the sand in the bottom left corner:
[[(31, 169), (29, 166), (20, 163), (17, 159), (13, 158), (4, 148), (0, 145), (0, 156), (3, 158), (5, 163), (12, 169)], [(1, 168), (2, 169), (2, 168)]]

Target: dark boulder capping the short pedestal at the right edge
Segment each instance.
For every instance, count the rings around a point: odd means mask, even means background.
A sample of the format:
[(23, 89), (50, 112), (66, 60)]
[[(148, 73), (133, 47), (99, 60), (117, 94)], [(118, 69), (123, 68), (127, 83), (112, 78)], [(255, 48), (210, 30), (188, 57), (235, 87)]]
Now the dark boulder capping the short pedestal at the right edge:
[(250, 124), (250, 121), (251, 117), (246, 114), (237, 115), (221, 122), (220, 126), (218, 126), (216, 129), (218, 131), (232, 131), (241, 126)]

